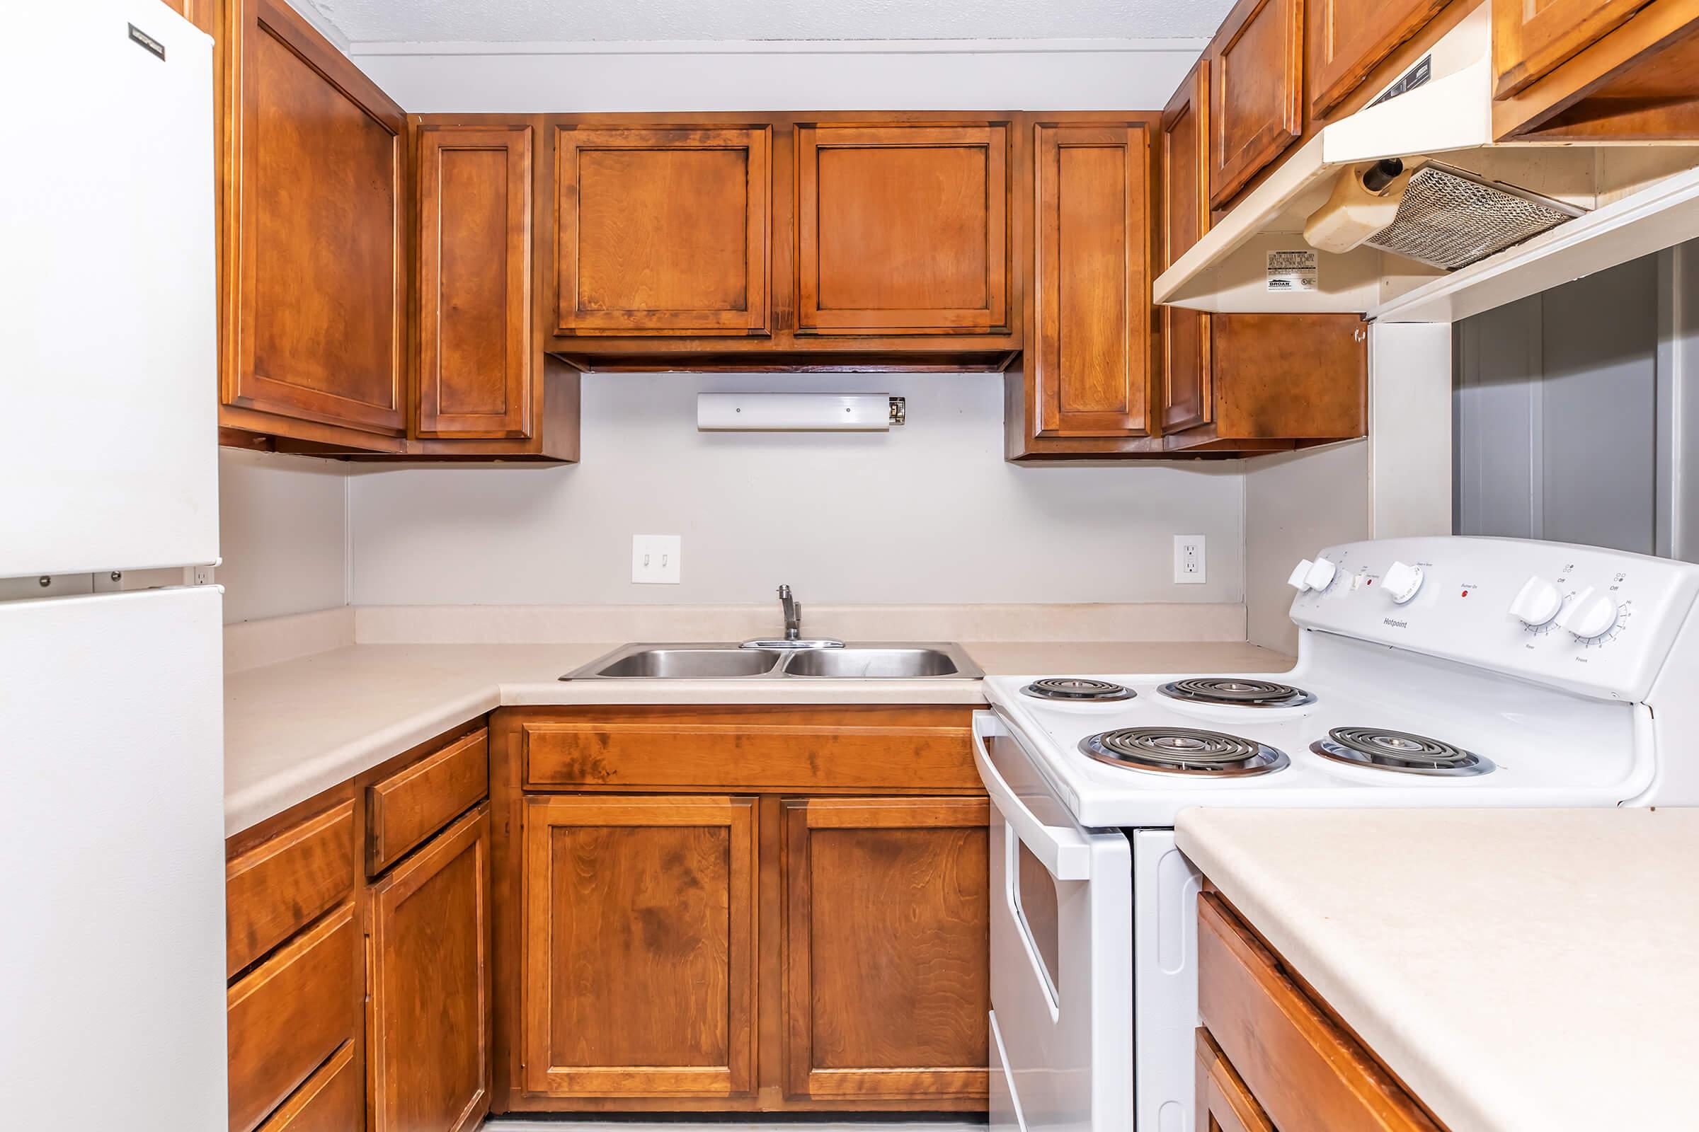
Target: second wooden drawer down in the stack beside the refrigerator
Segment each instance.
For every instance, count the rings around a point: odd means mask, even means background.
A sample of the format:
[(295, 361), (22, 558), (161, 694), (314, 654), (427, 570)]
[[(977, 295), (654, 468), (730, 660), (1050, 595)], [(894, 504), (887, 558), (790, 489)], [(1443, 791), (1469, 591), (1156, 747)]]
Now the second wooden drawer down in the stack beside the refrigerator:
[(353, 903), (229, 988), (229, 1127), (248, 1132), (355, 1037)]

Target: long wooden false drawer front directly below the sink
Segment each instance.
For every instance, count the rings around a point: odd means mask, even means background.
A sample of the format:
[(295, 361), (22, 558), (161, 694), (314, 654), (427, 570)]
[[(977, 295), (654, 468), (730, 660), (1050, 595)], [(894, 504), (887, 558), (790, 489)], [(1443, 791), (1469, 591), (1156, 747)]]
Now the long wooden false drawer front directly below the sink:
[(527, 784), (618, 789), (979, 789), (957, 708), (649, 708), (527, 723)]

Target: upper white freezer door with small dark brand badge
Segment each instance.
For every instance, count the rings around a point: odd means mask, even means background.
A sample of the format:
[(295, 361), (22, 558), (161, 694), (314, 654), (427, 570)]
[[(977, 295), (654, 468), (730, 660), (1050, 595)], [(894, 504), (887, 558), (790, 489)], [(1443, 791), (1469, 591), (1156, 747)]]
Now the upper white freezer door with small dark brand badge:
[(8, 5), (0, 105), (0, 577), (214, 562), (212, 41)]

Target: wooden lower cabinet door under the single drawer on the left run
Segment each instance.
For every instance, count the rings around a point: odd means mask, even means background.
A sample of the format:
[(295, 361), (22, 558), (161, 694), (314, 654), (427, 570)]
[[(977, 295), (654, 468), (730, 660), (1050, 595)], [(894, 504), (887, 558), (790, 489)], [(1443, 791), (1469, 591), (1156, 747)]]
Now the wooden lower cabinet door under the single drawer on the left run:
[(489, 806), (372, 889), (374, 1132), (460, 1132), (489, 1108)]

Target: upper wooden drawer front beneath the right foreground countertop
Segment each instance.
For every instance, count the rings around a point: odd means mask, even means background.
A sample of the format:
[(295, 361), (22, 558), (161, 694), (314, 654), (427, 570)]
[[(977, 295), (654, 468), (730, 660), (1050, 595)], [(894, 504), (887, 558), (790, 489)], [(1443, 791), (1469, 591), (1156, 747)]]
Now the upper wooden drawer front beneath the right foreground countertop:
[(1215, 893), (1198, 898), (1198, 1013), (1276, 1127), (1437, 1129)]

